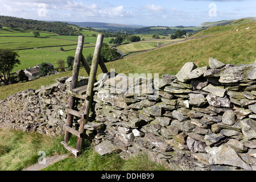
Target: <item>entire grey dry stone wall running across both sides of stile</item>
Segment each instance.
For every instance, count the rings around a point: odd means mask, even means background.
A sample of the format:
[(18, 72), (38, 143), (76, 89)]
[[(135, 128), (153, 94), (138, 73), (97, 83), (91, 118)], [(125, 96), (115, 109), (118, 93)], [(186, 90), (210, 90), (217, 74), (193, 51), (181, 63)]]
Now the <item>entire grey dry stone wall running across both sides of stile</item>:
[[(0, 101), (0, 127), (63, 135), (71, 78), (56, 81)], [(154, 79), (111, 72), (94, 91), (85, 129), (100, 155), (146, 152), (175, 170), (256, 170), (256, 61), (234, 67), (210, 58), (209, 67), (186, 63)]]

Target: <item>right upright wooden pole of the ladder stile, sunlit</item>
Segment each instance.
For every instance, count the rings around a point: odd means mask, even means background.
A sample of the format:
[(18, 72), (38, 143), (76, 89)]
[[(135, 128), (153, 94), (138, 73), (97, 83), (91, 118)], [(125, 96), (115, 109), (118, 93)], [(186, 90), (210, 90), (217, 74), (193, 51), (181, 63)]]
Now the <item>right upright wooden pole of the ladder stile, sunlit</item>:
[[(79, 129), (80, 133), (84, 133), (84, 125), (86, 125), (86, 123), (88, 123), (88, 119), (89, 119), (90, 105), (91, 105), (92, 99), (93, 99), (93, 86), (96, 81), (97, 68), (98, 68), (98, 63), (100, 61), (100, 53), (101, 53), (103, 39), (104, 39), (104, 35), (99, 34), (98, 38), (97, 38), (96, 47), (94, 50), (92, 66), (90, 69), (90, 76), (89, 76), (88, 87), (87, 87), (87, 92), (86, 92), (86, 100), (84, 102), (83, 110), (84, 110), (84, 114), (86, 114), (86, 116), (85, 116), (85, 119), (81, 119), (80, 129)], [(82, 141), (83, 141), (82, 138), (77, 139), (76, 150), (81, 151)]]

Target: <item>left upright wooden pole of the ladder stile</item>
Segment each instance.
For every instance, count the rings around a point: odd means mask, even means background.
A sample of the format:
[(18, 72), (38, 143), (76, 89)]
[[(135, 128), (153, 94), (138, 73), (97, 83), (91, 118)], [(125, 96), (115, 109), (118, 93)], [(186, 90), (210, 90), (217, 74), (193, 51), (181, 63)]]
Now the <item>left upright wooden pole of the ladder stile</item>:
[[(71, 90), (75, 89), (77, 87), (77, 81), (79, 77), (79, 68), (80, 68), (80, 61), (82, 57), (82, 47), (84, 46), (84, 36), (80, 35), (78, 39), (77, 49), (76, 49), (76, 55), (75, 55), (75, 61), (73, 65), (73, 73), (72, 73), (72, 81), (71, 81)], [(75, 97), (69, 97), (69, 109), (75, 108)], [(67, 126), (72, 127), (73, 125), (73, 115), (68, 113), (67, 117)], [(70, 133), (68, 131), (65, 132), (65, 138), (64, 142), (67, 143), (67, 141), (70, 138)]]

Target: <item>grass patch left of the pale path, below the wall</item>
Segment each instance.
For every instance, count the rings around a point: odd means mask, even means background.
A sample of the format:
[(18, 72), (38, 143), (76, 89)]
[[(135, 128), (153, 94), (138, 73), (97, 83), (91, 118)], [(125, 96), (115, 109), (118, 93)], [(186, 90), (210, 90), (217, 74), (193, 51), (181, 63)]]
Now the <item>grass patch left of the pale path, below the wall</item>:
[(46, 156), (67, 153), (61, 140), (63, 137), (0, 129), (0, 171), (19, 171), (37, 163), (39, 151)]

